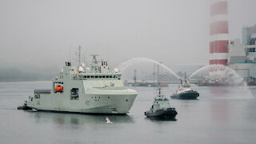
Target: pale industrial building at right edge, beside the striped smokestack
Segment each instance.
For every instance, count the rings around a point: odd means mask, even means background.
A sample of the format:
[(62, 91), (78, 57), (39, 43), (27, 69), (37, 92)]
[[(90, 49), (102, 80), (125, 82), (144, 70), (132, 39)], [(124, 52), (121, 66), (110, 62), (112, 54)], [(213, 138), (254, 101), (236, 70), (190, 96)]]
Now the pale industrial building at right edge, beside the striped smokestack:
[(230, 41), (228, 46), (228, 66), (235, 70), (248, 85), (256, 85), (256, 25), (242, 28), (240, 39)]

